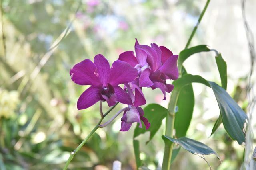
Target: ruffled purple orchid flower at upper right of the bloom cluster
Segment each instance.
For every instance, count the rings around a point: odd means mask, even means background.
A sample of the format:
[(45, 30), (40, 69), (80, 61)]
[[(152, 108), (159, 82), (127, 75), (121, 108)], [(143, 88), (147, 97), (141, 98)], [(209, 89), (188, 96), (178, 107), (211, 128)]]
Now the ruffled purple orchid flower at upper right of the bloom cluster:
[(139, 73), (139, 86), (160, 88), (164, 94), (170, 93), (174, 86), (167, 84), (166, 80), (176, 80), (178, 78), (177, 60), (178, 55), (173, 55), (172, 51), (164, 46), (158, 47), (155, 43), (148, 45), (139, 45), (137, 39), (135, 42), (135, 53), (126, 51), (120, 54), (119, 59), (134, 66)]

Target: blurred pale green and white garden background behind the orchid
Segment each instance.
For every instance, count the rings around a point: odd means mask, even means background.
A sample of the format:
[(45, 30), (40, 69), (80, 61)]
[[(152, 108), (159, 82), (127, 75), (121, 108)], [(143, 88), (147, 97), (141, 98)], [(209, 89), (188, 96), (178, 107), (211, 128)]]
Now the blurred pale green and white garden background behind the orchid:
[[(100, 119), (99, 104), (78, 111), (76, 101), (86, 86), (70, 80), (70, 68), (101, 53), (111, 63), (123, 51), (157, 43), (178, 54), (197, 23), (206, 0), (0, 0), (0, 169), (58, 170)], [(256, 30), (256, 1), (247, 0), (246, 17)], [(254, 39), (256, 39), (254, 35)], [(228, 65), (228, 93), (246, 110), (246, 78), (250, 55), (240, 0), (210, 2), (192, 40), (220, 51)], [(191, 74), (220, 82), (214, 52), (190, 57)], [(222, 160), (206, 156), (212, 168), (239, 169), (243, 148), (221, 125), (209, 138), (219, 110), (210, 88), (193, 85), (196, 105), (187, 137), (212, 147)], [(149, 103), (168, 106), (160, 90), (144, 89)], [(111, 117), (122, 108), (108, 115)], [(104, 110), (108, 107), (104, 103)], [(70, 169), (111, 169), (114, 160), (124, 170), (136, 167), (133, 129), (120, 132), (120, 116), (98, 129), (70, 164)], [(164, 123), (164, 122), (163, 122)], [(255, 127), (255, 121), (253, 122)], [(162, 162), (164, 126), (148, 145), (139, 137), (140, 157), (152, 170)], [(188, 168), (189, 167), (189, 168)], [(175, 170), (208, 169), (206, 162), (181, 149)]]

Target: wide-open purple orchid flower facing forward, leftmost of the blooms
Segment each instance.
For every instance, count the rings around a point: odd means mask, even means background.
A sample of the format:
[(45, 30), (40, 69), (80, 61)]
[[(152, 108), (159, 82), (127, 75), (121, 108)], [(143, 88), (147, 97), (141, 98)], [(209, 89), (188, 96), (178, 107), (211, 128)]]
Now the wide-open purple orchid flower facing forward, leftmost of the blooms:
[(106, 101), (108, 106), (116, 102), (131, 105), (130, 96), (118, 85), (134, 81), (138, 71), (124, 61), (114, 61), (110, 68), (107, 59), (98, 54), (94, 57), (94, 63), (85, 59), (74, 65), (70, 76), (76, 84), (91, 85), (77, 101), (77, 108), (81, 110), (100, 100)]

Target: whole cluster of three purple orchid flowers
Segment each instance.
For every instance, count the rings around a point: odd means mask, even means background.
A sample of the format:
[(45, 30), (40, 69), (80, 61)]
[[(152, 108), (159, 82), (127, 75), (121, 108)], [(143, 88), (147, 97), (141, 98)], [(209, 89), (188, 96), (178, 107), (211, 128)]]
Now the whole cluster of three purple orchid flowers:
[[(177, 59), (172, 51), (164, 46), (158, 47), (155, 43), (140, 45), (136, 39), (135, 54), (126, 51), (119, 55), (112, 67), (101, 54), (94, 57), (94, 63), (85, 59), (74, 65), (70, 70), (73, 82), (79, 85), (90, 85), (78, 98), (78, 110), (87, 109), (96, 102), (106, 101), (108, 106), (116, 102), (127, 104), (128, 107), (118, 111), (123, 113), (120, 131), (128, 131), (132, 123), (144, 123), (146, 129), (150, 123), (143, 117), (144, 111), (140, 107), (146, 104), (142, 87), (159, 88), (166, 99), (166, 92), (170, 93), (174, 86), (166, 80), (178, 78)], [(120, 84), (124, 84), (121, 88)]]

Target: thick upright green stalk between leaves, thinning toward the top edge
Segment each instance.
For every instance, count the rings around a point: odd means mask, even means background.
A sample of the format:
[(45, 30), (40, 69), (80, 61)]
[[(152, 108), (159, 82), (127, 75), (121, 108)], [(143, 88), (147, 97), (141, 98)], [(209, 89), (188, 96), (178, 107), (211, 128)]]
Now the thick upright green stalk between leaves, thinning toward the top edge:
[[(194, 34), (196, 33), (197, 27), (200, 24), (209, 3), (210, 3), (210, 0), (207, 0), (206, 4), (204, 6), (204, 9), (202, 10), (202, 12), (198, 18), (198, 23), (194, 27), (194, 29), (188, 39), (188, 42), (186, 43), (185, 49), (187, 49), (188, 46), (190, 45), (190, 42), (191, 42), (192, 38), (194, 37)], [(178, 68), (178, 69), (180, 70), (181, 68)], [(169, 136), (169, 137), (173, 137), (173, 129), (174, 129), (174, 122), (175, 122), (175, 107), (176, 107), (176, 104), (178, 101), (178, 95), (179, 95), (179, 92), (177, 90), (175, 90), (175, 87), (174, 87), (174, 90), (172, 91), (172, 94), (171, 94), (169, 107), (168, 107), (169, 114), (166, 117), (165, 135)], [(165, 143), (164, 144), (164, 159), (163, 159), (163, 164), (162, 164), (162, 170), (170, 170), (173, 145), (174, 145), (174, 143)]]

